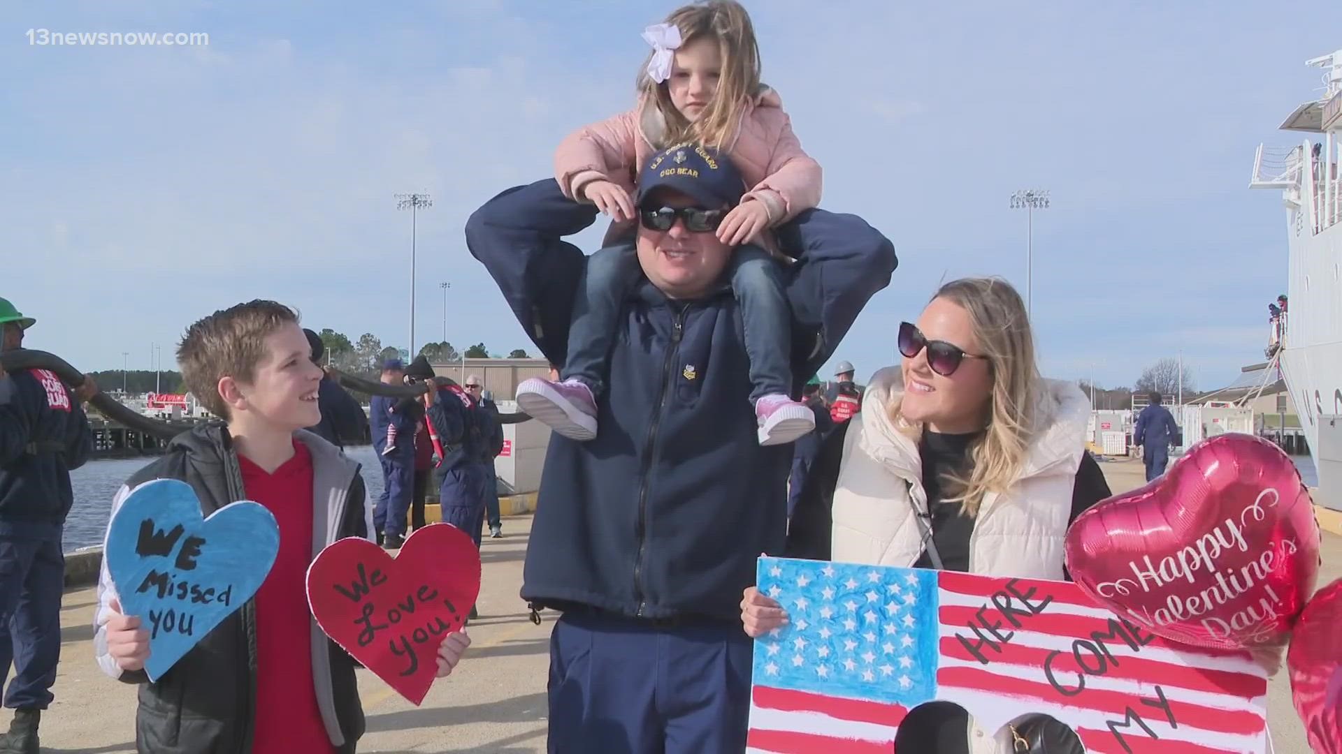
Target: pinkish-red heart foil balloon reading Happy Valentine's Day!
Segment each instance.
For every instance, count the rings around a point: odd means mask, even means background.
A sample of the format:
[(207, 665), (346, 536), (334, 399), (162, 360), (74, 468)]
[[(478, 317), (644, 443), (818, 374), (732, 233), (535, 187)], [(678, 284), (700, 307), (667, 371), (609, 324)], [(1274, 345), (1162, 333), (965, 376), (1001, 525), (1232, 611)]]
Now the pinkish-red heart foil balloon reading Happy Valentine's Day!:
[(1083, 592), (1151, 633), (1272, 647), (1314, 592), (1319, 527), (1291, 459), (1267, 440), (1227, 433), (1079, 515), (1066, 550)]

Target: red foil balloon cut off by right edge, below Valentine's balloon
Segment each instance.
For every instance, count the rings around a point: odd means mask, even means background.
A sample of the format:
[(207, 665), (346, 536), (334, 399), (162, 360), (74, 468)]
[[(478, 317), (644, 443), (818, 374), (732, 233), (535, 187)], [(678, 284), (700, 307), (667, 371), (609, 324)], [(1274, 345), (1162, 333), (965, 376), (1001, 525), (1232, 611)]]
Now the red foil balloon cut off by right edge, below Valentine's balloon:
[(1291, 635), (1286, 665), (1291, 700), (1304, 723), (1310, 750), (1342, 754), (1342, 580), (1310, 600)]

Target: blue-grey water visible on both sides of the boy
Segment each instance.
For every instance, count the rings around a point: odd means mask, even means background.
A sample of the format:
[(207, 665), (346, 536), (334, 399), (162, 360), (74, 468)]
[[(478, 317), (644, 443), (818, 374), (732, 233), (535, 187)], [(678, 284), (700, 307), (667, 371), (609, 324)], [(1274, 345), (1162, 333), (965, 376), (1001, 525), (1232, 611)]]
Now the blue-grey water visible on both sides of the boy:
[[(345, 453), (364, 467), (364, 484), (368, 487), (368, 498), (373, 499), (380, 495), (382, 492), (382, 472), (373, 447), (360, 445), (346, 448)], [(111, 498), (126, 483), (130, 475), (154, 460), (154, 457), (91, 460), (70, 472), (70, 484), (74, 487), (75, 504), (70, 508), (70, 517), (66, 518), (64, 551), (71, 553), (79, 547), (102, 545), (102, 538), (107, 533), (107, 515), (111, 511)]]

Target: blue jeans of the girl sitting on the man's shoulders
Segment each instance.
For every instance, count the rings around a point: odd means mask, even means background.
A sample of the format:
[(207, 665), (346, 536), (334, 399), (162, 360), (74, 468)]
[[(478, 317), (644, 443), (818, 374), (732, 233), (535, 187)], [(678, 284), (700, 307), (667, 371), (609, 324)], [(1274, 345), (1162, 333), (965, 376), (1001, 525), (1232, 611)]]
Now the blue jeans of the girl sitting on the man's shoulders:
[[(731, 252), (731, 291), (741, 311), (750, 357), (750, 401), (792, 392), (792, 309), (784, 294), (782, 263), (756, 246)], [(595, 396), (605, 392), (608, 357), (624, 299), (639, 275), (632, 246), (612, 246), (586, 259), (569, 323), (569, 350), (561, 377), (578, 380)]]

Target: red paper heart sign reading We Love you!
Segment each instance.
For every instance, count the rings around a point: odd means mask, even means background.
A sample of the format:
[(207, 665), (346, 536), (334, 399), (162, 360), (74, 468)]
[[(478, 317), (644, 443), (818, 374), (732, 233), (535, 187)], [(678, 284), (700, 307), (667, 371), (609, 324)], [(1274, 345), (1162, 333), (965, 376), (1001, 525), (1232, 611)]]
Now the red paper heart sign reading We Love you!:
[(460, 529), (425, 526), (392, 555), (352, 537), (307, 568), (317, 625), (416, 706), (437, 674), (443, 637), (466, 625), (480, 593), (480, 551)]

